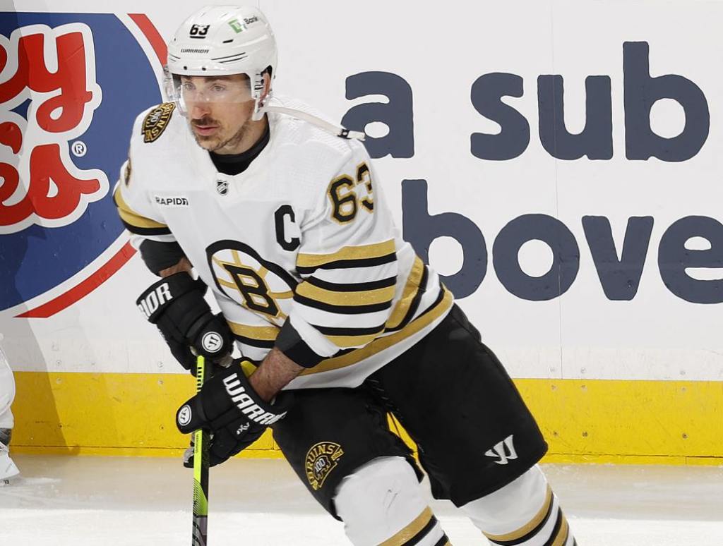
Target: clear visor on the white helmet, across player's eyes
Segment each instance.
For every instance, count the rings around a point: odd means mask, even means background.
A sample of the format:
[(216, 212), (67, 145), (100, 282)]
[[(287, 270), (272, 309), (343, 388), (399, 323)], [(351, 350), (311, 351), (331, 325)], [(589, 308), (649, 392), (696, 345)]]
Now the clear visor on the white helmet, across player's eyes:
[(210, 105), (239, 104), (254, 100), (251, 80), (246, 74), (230, 76), (178, 76), (168, 82), (169, 98), (184, 113)]

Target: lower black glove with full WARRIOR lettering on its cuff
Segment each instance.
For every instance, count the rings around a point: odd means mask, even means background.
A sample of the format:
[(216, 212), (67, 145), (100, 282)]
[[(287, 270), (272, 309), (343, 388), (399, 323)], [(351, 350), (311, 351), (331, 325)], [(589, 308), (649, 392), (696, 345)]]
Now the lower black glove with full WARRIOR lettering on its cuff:
[[(205, 428), (211, 433), (209, 463), (213, 467), (257, 441), (269, 425), (286, 415), (293, 395), (281, 392), (272, 404), (254, 391), (243, 366), (249, 360), (234, 360), (203, 384), (201, 391), (176, 412), (176, 426), (184, 434)], [(253, 368), (251, 368), (253, 369)], [(193, 467), (193, 458), (184, 457)]]

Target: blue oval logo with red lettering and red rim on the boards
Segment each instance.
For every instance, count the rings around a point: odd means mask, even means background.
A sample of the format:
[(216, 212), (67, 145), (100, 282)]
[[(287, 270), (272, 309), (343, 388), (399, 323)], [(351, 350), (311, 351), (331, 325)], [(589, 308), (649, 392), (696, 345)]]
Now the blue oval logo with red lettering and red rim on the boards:
[(0, 310), (51, 316), (134, 253), (111, 190), (165, 61), (142, 14), (0, 13)]

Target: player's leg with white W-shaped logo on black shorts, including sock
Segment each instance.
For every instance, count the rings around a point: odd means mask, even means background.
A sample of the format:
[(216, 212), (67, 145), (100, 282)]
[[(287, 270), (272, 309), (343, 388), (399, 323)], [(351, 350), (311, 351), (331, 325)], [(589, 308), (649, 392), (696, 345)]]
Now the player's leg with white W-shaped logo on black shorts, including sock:
[(458, 307), (367, 379), (419, 447), (436, 498), (502, 545), (575, 539), (536, 463), (547, 444), (513, 382)]

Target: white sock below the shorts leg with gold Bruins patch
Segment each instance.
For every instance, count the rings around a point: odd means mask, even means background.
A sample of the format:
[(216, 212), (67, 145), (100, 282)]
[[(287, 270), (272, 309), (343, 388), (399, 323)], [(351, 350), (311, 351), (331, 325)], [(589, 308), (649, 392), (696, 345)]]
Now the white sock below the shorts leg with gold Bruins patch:
[(402, 457), (379, 457), (344, 478), (334, 505), (355, 546), (450, 543)]

